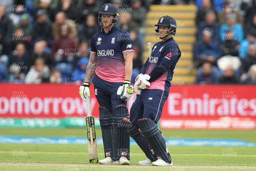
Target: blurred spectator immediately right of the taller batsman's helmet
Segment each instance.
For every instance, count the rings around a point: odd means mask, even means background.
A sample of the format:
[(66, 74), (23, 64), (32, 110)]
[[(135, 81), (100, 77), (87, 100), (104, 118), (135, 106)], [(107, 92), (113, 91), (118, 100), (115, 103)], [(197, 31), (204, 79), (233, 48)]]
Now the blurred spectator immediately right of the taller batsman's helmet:
[(122, 12), (119, 17), (119, 21), (116, 23), (116, 26), (125, 30), (125, 31), (139, 31), (140, 26), (137, 25), (133, 20), (131, 13), (129, 12)]

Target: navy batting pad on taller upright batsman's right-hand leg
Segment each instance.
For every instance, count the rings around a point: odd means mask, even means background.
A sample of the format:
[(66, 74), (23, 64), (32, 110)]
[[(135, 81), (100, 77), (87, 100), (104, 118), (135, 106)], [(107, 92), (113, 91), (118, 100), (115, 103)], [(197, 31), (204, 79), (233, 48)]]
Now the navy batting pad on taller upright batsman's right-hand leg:
[(130, 160), (130, 136), (125, 128), (125, 122), (123, 118), (129, 119), (128, 109), (125, 105), (118, 105), (113, 109), (112, 118), (114, 123), (114, 145), (115, 159), (119, 160), (121, 156), (125, 156), (127, 160)]

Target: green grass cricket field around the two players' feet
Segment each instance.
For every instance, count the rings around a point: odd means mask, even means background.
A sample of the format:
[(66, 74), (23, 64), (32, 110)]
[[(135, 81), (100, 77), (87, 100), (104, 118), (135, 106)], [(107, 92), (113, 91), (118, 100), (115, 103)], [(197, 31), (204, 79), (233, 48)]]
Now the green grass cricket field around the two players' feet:
[[(237, 139), (256, 143), (256, 130), (162, 130), (165, 137)], [(99, 129), (97, 137), (101, 137)], [(1, 128), (0, 135), (85, 137), (85, 129)], [(13, 150), (22, 150), (14, 155)], [(0, 143), (0, 170), (62, 170), (62, 171), (246, 171), (256, 170), (256, 147), (168, 146), (174, 165), (171, 167), (140, 166), (145, 154), (131, 146), (131, 165), (89, 164), (86, 145)], [(223, 151), (232, 151), (224, 155)], [(99, 159), (104, 157), (98, 146)]]

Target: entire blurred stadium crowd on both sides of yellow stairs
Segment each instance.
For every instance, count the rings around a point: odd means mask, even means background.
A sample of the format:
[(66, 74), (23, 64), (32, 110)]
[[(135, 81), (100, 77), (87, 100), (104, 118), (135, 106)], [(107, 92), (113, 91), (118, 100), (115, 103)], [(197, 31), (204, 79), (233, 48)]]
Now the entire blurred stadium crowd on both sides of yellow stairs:
[(196, 83), (256, 84), (256, 0), (0, 0), (0, 82), (83, 82), (105, 3), (134, 42), (131, 81), (143, 65), (149, 6), (193, 3)]

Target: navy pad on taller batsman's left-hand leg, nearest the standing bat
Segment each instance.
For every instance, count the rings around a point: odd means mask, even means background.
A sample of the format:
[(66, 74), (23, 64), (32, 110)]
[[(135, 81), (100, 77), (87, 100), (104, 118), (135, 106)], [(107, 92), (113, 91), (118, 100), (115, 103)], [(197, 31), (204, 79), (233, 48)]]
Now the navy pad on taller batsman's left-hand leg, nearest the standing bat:
[(102, 129), (105, 157), (109, 156), (114, 159), (113, 119), (111, 112), (105, 107), (99, 107), (99, 123)]

